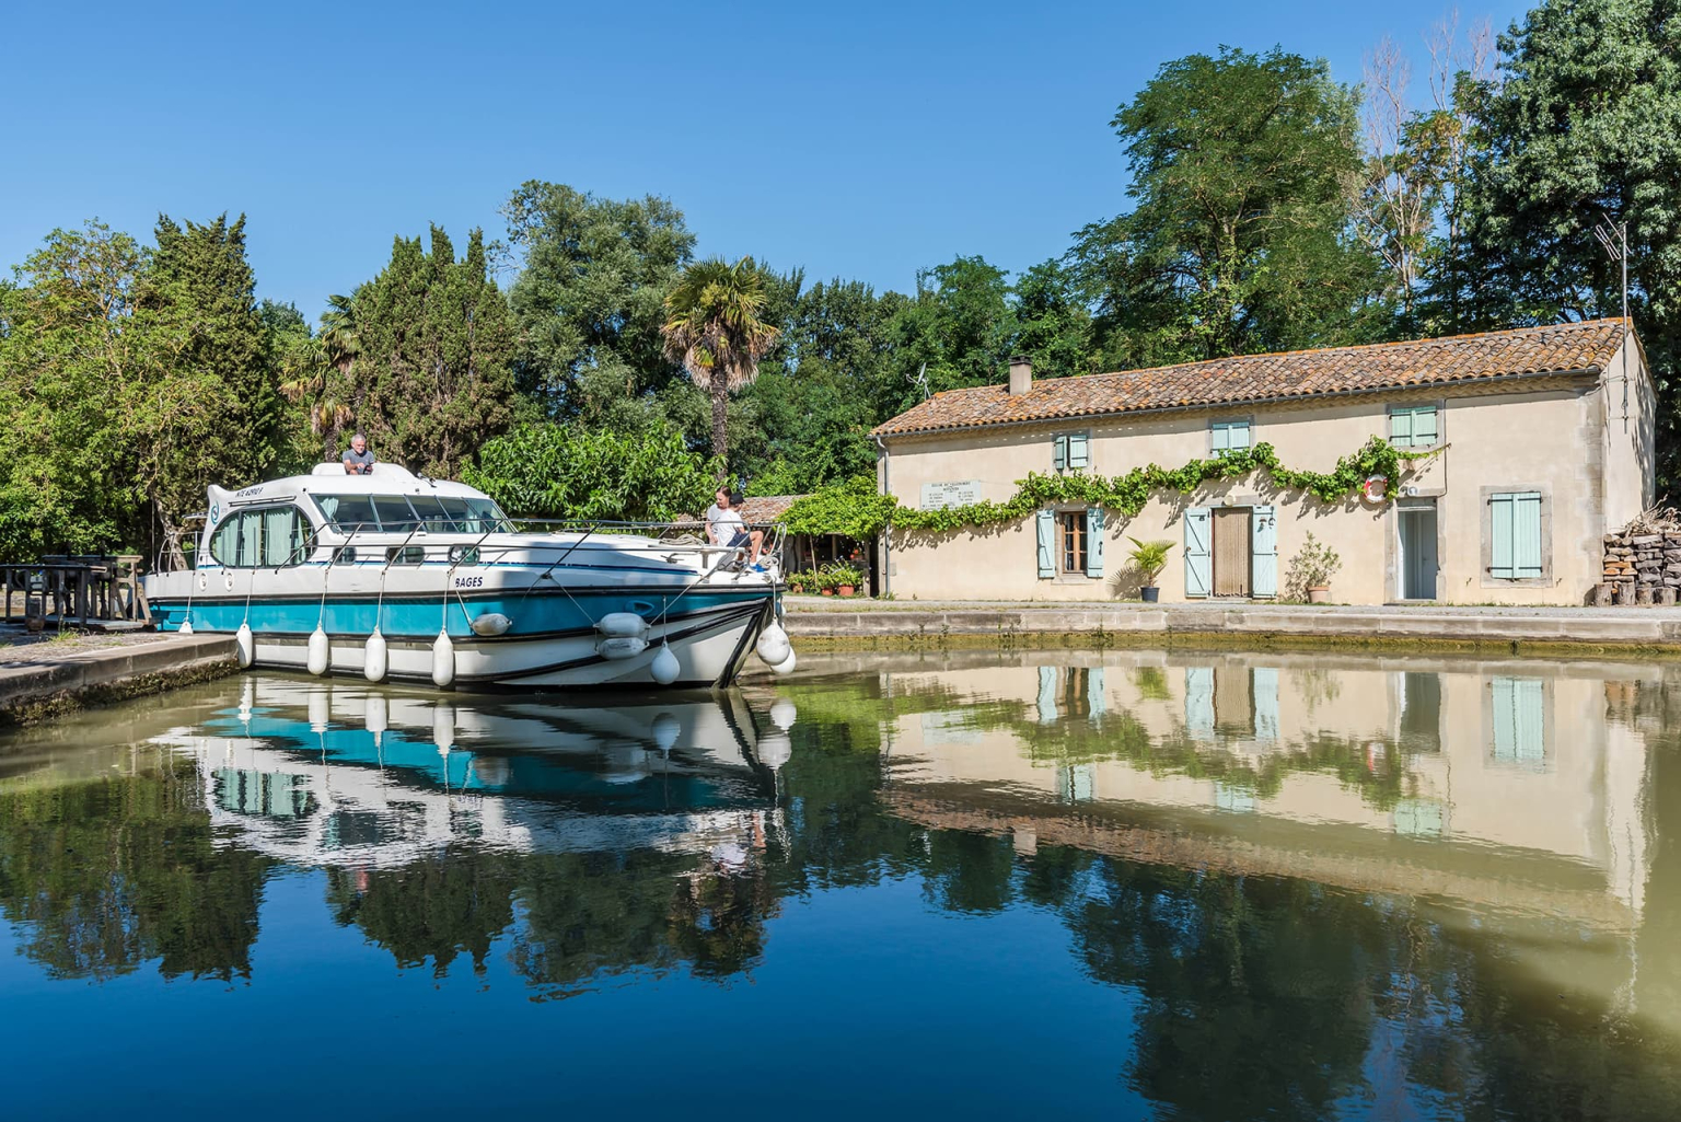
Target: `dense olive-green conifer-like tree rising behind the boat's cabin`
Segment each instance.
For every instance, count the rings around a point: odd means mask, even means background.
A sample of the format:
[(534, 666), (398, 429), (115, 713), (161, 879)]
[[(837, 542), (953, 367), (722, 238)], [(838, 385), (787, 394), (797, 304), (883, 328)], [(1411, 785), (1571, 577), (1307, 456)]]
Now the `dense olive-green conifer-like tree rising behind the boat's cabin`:
[(518, 331), (479, 230), (461, 261), (435, 225), (430, 252), (419, 237), (398, 237), (390, 264), (353, 293), (350, 313), (356, 424), (380, 458), (456, 478), (513, 424)]

